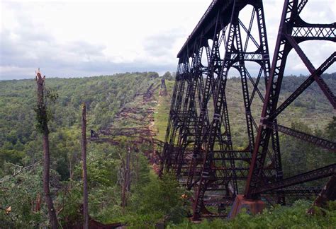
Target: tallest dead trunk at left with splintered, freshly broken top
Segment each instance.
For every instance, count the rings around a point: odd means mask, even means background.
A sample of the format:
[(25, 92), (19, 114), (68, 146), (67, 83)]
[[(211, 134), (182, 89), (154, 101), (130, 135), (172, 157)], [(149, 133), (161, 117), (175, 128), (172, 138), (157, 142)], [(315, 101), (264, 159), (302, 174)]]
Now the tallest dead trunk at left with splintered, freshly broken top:
[(44, 102), (45, 76), (42, 78), (40, 69), (36, 72), (38, 85), (38, 122), (43, 134), (43, 192), (49, 213), (49, 221), (52, 228), (58, 228), (57, 216), (50, 196), (50, 152), (49, 152), (49, 129), (47, 127), (47, 107)]

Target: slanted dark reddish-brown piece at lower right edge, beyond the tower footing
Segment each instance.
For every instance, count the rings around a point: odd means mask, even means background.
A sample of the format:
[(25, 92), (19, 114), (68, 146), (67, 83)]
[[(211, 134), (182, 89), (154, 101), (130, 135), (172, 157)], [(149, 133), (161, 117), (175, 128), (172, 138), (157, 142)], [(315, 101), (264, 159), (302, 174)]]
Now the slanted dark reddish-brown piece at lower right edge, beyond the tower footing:
[(318, 197), (315, 199), (313, 206), (308, 209), (308, 214), (314, 214), (314, 206), (324, 208), (327, 205), (327, 201), (335, 201), (336, 200), (336, 175), (333, 175), (329, 182), (325, 184)]

